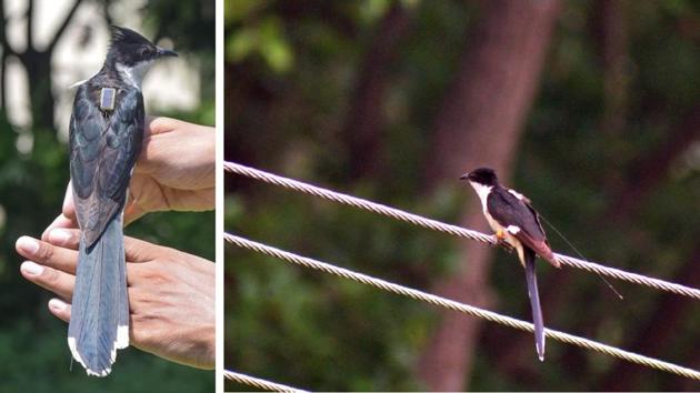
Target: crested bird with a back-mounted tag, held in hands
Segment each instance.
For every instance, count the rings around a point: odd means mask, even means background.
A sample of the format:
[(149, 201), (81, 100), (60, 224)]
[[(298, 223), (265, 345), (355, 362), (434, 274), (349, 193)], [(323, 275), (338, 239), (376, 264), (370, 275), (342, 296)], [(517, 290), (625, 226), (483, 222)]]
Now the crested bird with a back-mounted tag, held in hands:
[(68, 346), (89, 375), (106, 376), (129, 346), (123, 208), (143, 139), (141, 81), (177, 56), (139, 33), (112, 28), (102, 69), (79, 84), (70, 120), (70, 178), (81, 229)]

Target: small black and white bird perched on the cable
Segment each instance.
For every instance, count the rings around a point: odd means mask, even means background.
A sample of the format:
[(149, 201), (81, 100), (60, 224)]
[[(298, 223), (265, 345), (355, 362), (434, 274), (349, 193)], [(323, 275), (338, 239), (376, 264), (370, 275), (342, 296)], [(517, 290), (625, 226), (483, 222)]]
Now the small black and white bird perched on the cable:
[(483, 215), (491, 229), (496, 231), (499, 242), (507, 242), (518, 252), (520, 263), (524, 268), (528, 282), (528, 295), (532, 306), (534, 324), (534, 346), (540, 361), (544, 360), (544, 324), (540, 308), (540, 295), (537, 290), (534, 274), (534, 256), (540, 255), (554, 268), (560, 268), (547, 241), (538, 212), (530, 200), (521, 193), (499, 184), (496, 172), (489, 168), (479, 168), (463, 174), (479, 199)]

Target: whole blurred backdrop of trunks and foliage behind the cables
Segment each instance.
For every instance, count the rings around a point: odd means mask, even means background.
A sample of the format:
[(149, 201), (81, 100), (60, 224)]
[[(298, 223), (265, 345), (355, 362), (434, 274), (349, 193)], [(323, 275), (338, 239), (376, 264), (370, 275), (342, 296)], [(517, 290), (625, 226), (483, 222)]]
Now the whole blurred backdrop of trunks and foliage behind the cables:
[[(226, 158), (486, 231), (496, 168), (583, 254), (700, 286), (700, 4), (227, 0)], [(226, 229), (530, 320), (516, 256), (227, 175)], [(574, 254), (549, 229), (556, 251)], [(232, 246), (226, 366), (338, 390), (699, 390)], [(700, 367), (691, 300), (540, 264), (546, 325)], [(228, 389), (246, 389), (228, 384)]]

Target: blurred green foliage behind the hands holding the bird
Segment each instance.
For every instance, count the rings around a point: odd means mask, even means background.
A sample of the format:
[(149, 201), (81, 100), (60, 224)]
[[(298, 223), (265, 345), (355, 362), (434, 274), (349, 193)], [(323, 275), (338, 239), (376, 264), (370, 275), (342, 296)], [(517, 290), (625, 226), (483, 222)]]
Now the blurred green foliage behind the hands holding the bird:
[[(211, 3), (213, 9), (213, 1), (180, 1), (179, 7), (171, 7), (164, 1), (151, 3), (147, 24), (171, 27), (161, 36), (182, 48), (183, 58), (211, 64), (211, 68), (203, 67), (200, 73), (202, 94), (210, 93), (202, 97), (199, 108), (191, 112), (159, 113), (212, 125), (213, 11), (209, 19), (190, 11), (206, 9), (207, 3)], [(188, 11), (187, 16), (183, 12), (176, 19), (177, 10)], [(99, 19), (94, 22), (106, 23)], [(40, 81), (42, 75), (30, 75), (29, 79)], [(69, 180), (68, 147), (54, 137), (56, 130), (49, 131), (20, 130), (10, 124), (0, 111), (0, 310), (3, 314), (0, 321), (0, 359), (3, 360), (0, 364), (0, 391), (213, 391), (211, 371), (182, 366), (133, 347), (119, 352), (119, 360), (108, 379), (88, 377), (79, 364), (72, 364), (71, 371), (71, 356), (66, 344), (67, 325), (48, 312), (50, 294), (21, 278), (21, 261), (14, 251), (19, 236), (39, 236), (61, 209)], [(18, 148), (26, 147), (28, 141), (31, 149)], [(157, 213), (127, 228), (126, 234), (213, 261), (213, 212)]]

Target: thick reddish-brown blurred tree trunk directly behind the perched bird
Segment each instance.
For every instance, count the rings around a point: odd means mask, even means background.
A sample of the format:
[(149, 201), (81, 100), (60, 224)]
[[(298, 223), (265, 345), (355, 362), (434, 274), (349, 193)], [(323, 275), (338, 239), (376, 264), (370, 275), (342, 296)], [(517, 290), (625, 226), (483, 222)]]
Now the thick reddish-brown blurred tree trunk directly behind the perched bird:
[[(426, 189), (457, 182), (467, 170), (488, 165), (504, 182), (537, 92), (539, 74), (559, 9), (557, 0), (498, 0), (486, 3), (472, 46), (462, 60), (434, 125), (434, 141), (426, 164)], [(464, 189), (463, 192), (471, 191)], [(460, 223), (486, 229), (476, 198)], [(490, 250), (464, 241), (460, 271), (437, 283), (437, 292), (461, 302), (487, 305)], [(513, 262), (513, 269), (517, 268)], [(523, 285), (524, 288), (524, 285)], [(527, 294), (523, 292), (523, 296)], [(431, 344), (419, 362), (419, 375), (431, 390), (468, 387), (480, 321), (444, 312)]]

